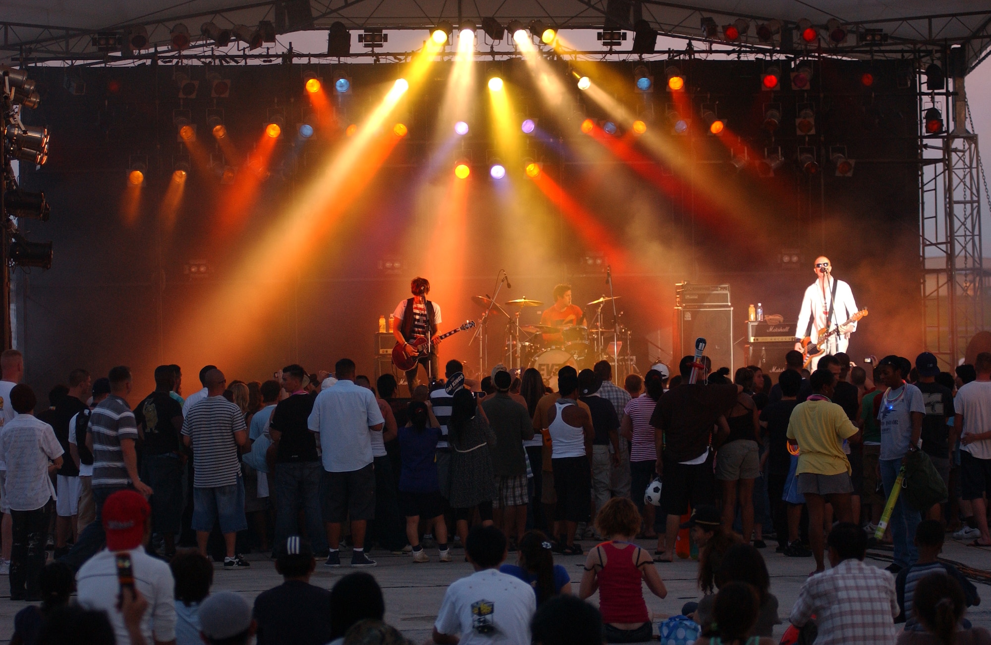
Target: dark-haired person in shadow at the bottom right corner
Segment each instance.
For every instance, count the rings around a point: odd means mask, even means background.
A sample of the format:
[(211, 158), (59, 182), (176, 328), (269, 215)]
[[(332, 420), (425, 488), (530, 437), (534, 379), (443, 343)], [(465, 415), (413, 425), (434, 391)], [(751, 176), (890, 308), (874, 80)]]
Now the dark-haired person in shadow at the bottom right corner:
[(938, 572), (924, 576), (916, 585), (915, 599), (912, 617), (922, 630), (906, 629), (897, 645), (991, 645), (991, 633), (984, 627), (960, 629), (961, 622), (967, 622), (966, 599), (955, 577)]

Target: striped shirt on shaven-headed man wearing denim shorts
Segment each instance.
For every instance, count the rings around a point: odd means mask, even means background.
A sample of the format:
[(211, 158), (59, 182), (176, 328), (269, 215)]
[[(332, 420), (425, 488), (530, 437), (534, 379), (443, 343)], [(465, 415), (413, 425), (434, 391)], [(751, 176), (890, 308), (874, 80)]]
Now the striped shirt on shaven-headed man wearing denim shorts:
[(182, 419), (182, 434), (192, 444), (192, 485), (198, 489), (234, 486), (241, 476), (234, 433), (246, 430), (241, 409), (222, 396), (207, 397)]

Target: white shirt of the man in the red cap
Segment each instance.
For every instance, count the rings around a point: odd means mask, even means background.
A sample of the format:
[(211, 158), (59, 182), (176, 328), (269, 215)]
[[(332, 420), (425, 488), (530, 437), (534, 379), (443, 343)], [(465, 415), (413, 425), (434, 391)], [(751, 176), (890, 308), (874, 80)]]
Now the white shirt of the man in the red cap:
[[(148, 600), (148, 609), (141, 621), (141, 632), (149, 643), (175, 638), (175, 582), (168, 563), (145, 553), (143, 547), (132, 549), (131, 568), (135, 587)], [(89, 609), (103, 609), (117, 634), (117, 645), (130, 645), (131, 638), (124, 618), (117, 610), (117, 554), (103, 549), (86, 561), (76, 574), (75, 587), (79, 604)]]

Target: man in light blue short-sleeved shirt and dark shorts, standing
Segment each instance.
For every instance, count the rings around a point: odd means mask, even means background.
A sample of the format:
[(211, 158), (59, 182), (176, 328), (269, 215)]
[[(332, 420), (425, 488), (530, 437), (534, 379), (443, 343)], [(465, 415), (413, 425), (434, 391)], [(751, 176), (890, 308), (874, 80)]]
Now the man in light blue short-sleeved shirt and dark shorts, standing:
[(375, 518), (375, 466), (372, 433), (382, 432), (385, 418), (375, 395), (355, 384), (355, 362), (334, 367), (337, 383), (322, 390), (313, 403), (307, 426), (320, 435), (323, 451), (323, 520), (330, 553), (328, 567), (341, 566), (341, 523), (351, 521), (352, 567), (374, 567), (365, 553), (368, 521)]

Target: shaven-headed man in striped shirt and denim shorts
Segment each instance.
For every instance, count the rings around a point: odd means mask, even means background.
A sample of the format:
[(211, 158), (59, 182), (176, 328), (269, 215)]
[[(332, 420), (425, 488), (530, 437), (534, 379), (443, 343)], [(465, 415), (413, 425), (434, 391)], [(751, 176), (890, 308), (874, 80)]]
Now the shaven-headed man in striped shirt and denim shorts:
[(248, 428), (241, 409), (224, 398), (227, 379), (217, 368), (203, 374), (206, 398), (186, 410), (182, 441), (192, 449), (192, 528), (199, 552), (206, 555), (206, 541), (213, 524), (220, 521), (227, 552), (224, 569), (249, 566), (234, 552), (238, 531), (248, 528), (245, 517), (245, 484), (238, 450), (250, 449)]

